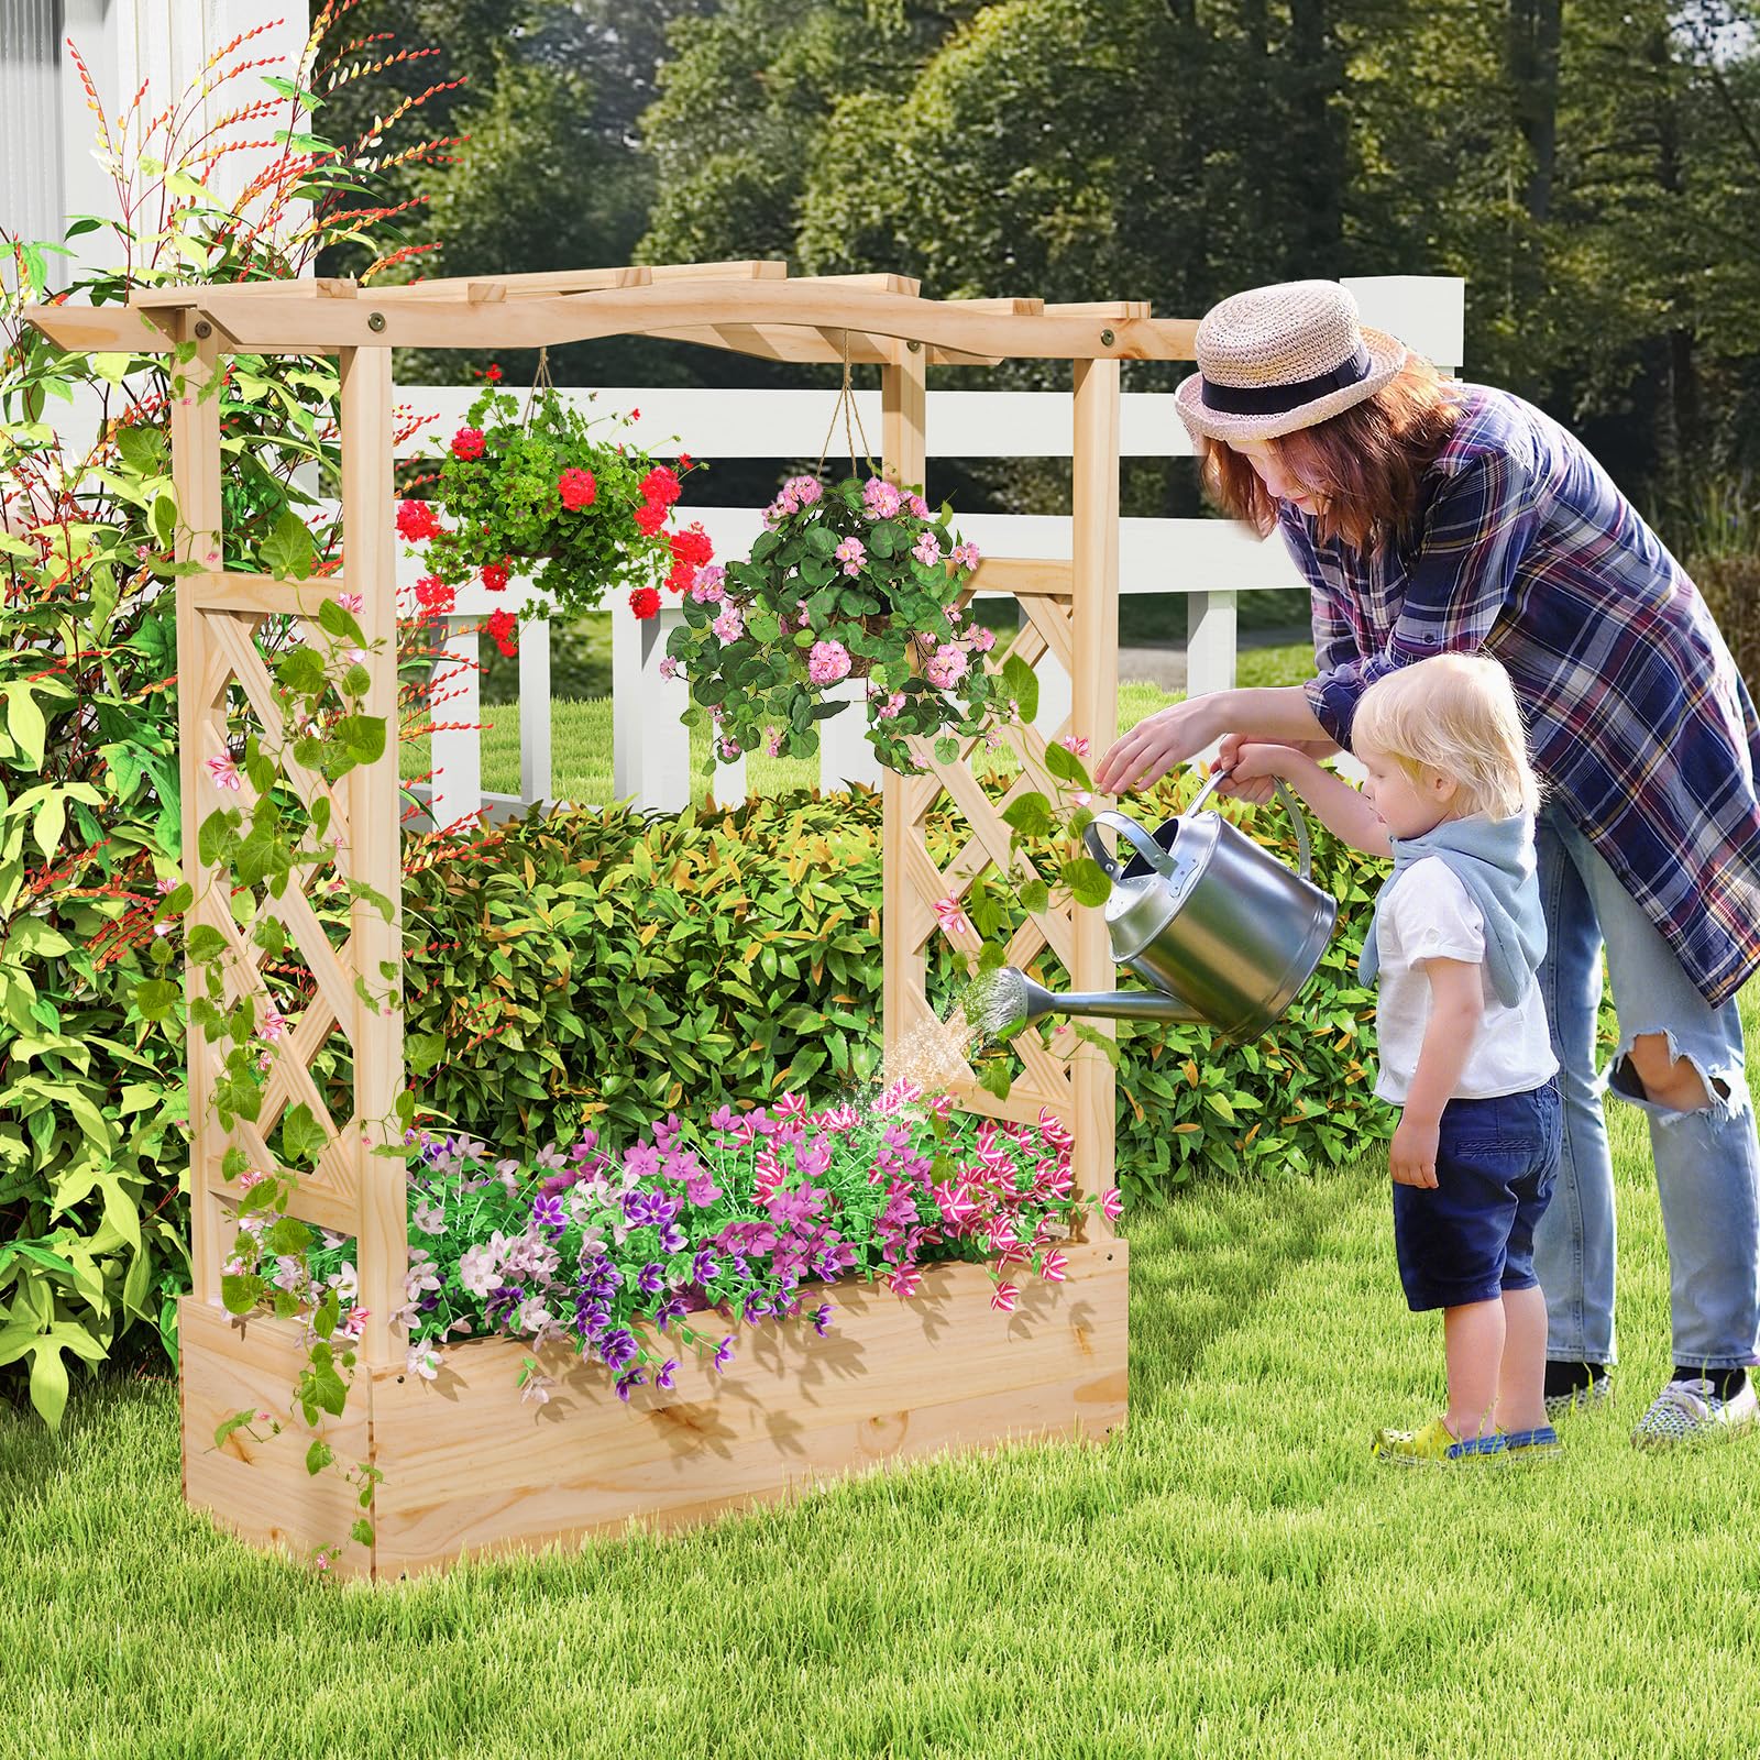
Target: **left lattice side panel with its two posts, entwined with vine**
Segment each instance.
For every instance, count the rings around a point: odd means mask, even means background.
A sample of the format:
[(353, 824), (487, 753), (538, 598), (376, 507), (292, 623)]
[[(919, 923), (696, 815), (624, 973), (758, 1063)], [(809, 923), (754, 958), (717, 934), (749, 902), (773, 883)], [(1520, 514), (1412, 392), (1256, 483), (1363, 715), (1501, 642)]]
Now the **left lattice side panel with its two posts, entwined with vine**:
[[(363, 1336), (371, 1364), (392, 1357), (391, 1316), (403, 1304), (408, 1265), (403, 1163), (375, 1151), (396, 1135), (394, 1105), (403, 1086), (403, 1016), (398, 986), (385, 968), (400, 957), (401, 869), (398, 862), (398, 774), (394, 748), (377, 764), (352, 769), (338, 783), (285, 762), (287, 783), (304, 806), (329, 801), (326, 841), (331, 857), (299, 866), (280, 898), (268, 885), (239, 887), (234, 876), (202, 861), (201, 824), (224, 804), (250, 813), (248, 780), (232, 792), (215, 788), (211, 759), (236, 757), (232, 741), (255, 725), (269, 750), (287, 743), (280, 690), (260, 649), (268, 618), (287, 616), (319, 642), (317, 609), (345, 590), (359, 595), (359, 623), (368, 641), (370, 685), (363, 713), (396, 723), (396, 544), (391, 524), (391, 357), (387, 348), (341, 348), (341, 521), (345, 577), (269, 581), (222, 570), (222, 496), (218, 403), (202, 389), (216, 370), (220, 338), (185, 315), (192, 347), (183, 385), (172, 403), (172, 470), (180, 509), (180, 558), (197, 572), (178, 581), (178, 704), (183, 746), (183, 875), (194, 891), (190, 920), (220, 935), (225, 1001), (252, 996), (259, 1023), (275, 1007), (287, 1033), (266, 1045), (266, 1089), (257, 1119), (234, 1118), (222, 1128), (213, 1107), (215, 1081), (229, 1042), (188, 1038), (190, 1091), (190, 1260), (195, 1294), (215, 1301), (220, 1265), (236, 1232), (239, 1188), (222, 1165), (239, 1148), (252, 1167), (285, 1167), (276, 1126), (296, 1105), (310, 1109), (326, 1142), (315, 1167), (294, 1169), (297, 1192), (287, 1211), (304, 1221), (352, 1236), (357, 1243)], [(312, 889), (361, 882), (392, 906), (391, 919), (366, 899), (347, 905), (347, 928), (331, 933)], [(285, 931), (296, 987), (269, 972), (275, 956), (257, 947), (255, 931), (273, 919)], [(285, 961), (283, 961), (285, 963)], [(303, 973), (301, 973), (303, 964)], [(201, 970), (195, 991), (206, 987)], [(326, 1100), (315, 1070), (348, 1063), (345, 1105)], [(334, 1093), (334, 1088), (331, 1089)]]

